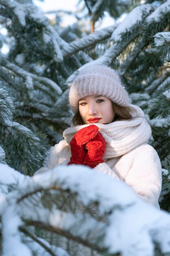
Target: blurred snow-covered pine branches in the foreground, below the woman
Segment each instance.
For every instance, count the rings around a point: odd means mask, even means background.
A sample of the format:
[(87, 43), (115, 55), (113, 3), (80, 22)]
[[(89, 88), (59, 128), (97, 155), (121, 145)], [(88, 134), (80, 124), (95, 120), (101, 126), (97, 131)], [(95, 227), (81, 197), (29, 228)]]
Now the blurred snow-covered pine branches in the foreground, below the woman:
[(0, 168), (3, 256), (170, 252), (170, 215), (120, 180), (87, 166), (57, 166), (34, 177)]

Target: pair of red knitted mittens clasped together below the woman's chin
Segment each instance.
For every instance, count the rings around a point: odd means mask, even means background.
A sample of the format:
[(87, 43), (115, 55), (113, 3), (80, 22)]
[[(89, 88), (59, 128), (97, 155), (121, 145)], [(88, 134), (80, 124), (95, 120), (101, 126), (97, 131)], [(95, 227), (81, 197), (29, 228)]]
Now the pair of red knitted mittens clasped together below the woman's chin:
[(94, 168), (104, 162), (105, 140), (98, 127), (90, 125), (82, 128), (70, 141), (72, 157), (68, 164), (85, 164)]

